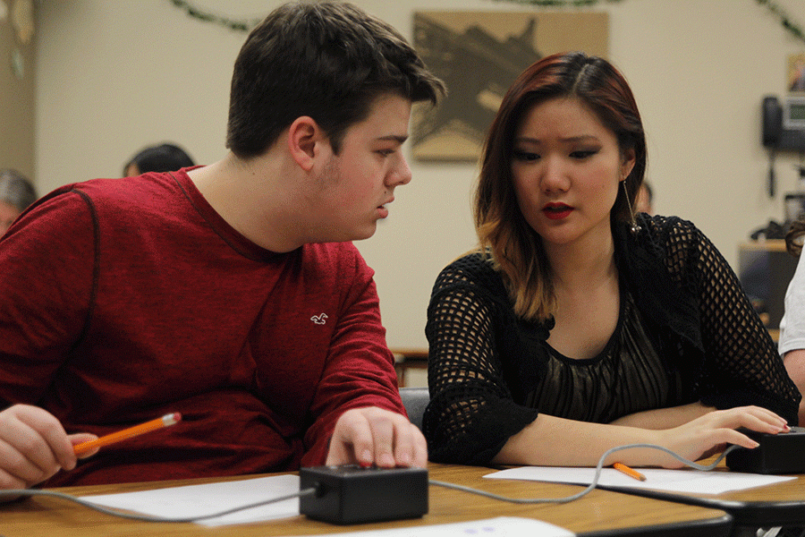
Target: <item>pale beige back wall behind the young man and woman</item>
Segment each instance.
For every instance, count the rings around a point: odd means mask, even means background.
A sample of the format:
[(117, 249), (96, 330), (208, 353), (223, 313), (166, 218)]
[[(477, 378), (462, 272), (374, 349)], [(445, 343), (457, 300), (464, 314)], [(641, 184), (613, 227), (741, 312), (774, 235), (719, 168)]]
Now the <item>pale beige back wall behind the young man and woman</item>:
[[(196, 0), (252, 18), (276, 0)], [(357, 0), (411, 36), (425, 9), (522, 10), (488, 0)], [(776, 0), (805, 25), (805, 2)], [(610, 58), (627, 78), (648, 131), (648, 178), (660, 214), (701, 227), (733, 263), (736, 246), (770, 218), (759, 143), (761, 98), (784, 94), (788, 55), (805, 52), (755, 0), (623, 0), (610, 14)], [(119, 175), (156, 141), (182, 143), (208, 163), (224, 154), (228, 85), (245, 36), (191, 20), (169, 0), (40, 4), (36, 166), (41, 188)], [(777, 158), (778, 192), (792, 191), (796, 155)], [(358, 243), (377, 269), (392, 346), (424, 346), (428, 295), (438, 271), (474, 243), (472, 164), (411, 162), (391, 217)]]

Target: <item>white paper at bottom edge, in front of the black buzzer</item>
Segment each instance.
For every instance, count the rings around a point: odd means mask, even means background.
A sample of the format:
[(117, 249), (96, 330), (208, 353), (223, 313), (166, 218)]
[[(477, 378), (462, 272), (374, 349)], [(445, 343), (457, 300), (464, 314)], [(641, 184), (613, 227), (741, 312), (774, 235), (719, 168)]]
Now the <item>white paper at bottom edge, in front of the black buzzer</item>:
[(574, 537), (575, 533), (533, 518), (499, 516), (455, 524), (338, 533), (338, 535), (339, 537), (494, 537), (496, 535), (504, 537)]

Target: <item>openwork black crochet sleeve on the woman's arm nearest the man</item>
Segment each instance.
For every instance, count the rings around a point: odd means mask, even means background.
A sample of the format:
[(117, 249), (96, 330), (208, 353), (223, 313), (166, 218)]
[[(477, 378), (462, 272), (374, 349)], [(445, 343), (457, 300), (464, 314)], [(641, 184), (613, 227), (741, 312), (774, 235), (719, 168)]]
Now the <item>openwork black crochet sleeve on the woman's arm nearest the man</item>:
[(496, 351), (495, 304), (462, 270), (445, 268), (428, 306), (423, 432), (434, 462), (487, 464), (537, 417), (515, 405)]

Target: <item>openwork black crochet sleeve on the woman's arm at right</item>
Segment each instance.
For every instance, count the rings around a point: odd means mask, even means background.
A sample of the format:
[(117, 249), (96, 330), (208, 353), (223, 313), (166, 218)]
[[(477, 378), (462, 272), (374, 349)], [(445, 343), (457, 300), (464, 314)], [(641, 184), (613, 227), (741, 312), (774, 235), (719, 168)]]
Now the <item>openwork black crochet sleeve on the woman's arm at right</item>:
[(716, 408), (760, 405), (796, 423), (799, 391), (721, 253), (690, 224), (674, 226), (668, 253), (669, 268), (682, 286), (698, 287), (702, 402)]

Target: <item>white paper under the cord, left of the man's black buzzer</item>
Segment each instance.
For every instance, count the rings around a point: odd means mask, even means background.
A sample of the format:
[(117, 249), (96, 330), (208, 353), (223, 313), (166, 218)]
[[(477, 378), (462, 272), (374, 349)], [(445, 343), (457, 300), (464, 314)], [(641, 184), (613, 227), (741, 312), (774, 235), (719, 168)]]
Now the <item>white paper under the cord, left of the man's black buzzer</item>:
[[(128, 509), (143, 515), (177, 518), (219, 513), (233, 507), (250, 505), (298, 491), (298, 475), (275, 475), (208, 485), (83, 496), (81, 499), (99, 506)], [(297, 515), (299, 515), (299, 499), (293, 498), (202, 520), (198, 524), (207, 526), (247, 524)]]

